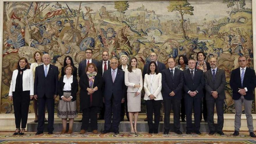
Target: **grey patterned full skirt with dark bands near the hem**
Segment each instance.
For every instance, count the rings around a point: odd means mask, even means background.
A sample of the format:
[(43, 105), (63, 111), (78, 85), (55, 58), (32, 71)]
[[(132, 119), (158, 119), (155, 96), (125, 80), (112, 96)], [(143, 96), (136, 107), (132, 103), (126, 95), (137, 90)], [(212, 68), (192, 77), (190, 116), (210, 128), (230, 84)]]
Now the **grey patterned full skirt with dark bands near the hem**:
[[(64, 97), (69, 98), (71, 93), (64, 92), (63, 95)], [(76, 101), (65, 102), (63, 100), (59, 100), (57, 116), (59, 118), (76, 118), (77, 102)]]

